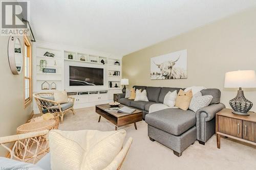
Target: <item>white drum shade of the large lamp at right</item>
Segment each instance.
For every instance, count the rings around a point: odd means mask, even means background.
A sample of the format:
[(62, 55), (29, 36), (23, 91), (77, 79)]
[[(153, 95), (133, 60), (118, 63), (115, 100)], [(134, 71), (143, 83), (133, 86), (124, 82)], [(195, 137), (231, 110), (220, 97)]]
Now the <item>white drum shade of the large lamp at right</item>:
[(238, 70), (226, 72), (225, 88), (254, 88), (256, 87), (256, 75), (254, 70)]

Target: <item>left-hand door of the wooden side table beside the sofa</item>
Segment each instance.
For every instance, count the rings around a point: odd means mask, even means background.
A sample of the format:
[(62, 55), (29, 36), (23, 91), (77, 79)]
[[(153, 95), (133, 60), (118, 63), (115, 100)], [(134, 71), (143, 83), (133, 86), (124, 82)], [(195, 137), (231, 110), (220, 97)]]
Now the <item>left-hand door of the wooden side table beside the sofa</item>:
[(225, 116), (219, 117), (219, 132), (242, 138), (242, 120)]

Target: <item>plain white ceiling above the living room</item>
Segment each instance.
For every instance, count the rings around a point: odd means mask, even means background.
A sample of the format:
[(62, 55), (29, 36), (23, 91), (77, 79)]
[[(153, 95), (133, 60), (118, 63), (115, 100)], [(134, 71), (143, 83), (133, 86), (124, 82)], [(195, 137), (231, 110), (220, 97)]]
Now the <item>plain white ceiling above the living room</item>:
[(256, 6), (255, 0), (33, 0), (36, 40), (126, 55)]

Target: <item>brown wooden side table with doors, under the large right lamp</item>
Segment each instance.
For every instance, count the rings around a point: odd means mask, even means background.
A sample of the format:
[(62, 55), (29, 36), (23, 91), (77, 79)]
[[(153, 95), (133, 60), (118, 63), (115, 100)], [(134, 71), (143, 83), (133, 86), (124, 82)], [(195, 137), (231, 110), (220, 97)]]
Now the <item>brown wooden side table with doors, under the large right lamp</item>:
[(256, 145), (256, 113), (238, 115), (231, 109), (222, 109), (216, 114), (217, 147), (220, 149), (221, 136), (230, 137)]

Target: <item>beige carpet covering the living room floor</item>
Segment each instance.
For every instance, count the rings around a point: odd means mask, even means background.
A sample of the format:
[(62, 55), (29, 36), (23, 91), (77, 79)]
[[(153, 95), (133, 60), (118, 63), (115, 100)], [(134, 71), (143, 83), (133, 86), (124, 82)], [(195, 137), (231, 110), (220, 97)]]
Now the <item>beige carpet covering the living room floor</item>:
[[(138, 130), (134, 125), (121, 127), (127, 132), (126, 139), (134, 139), (122, 169), (256, 169), (256, 148), (248, 144), (221, 138), (221, 149), (217, 149), (214, 135), (205, 145), (196, 141), (177, 157), (172, 150), (148, 138), (144, 121), (137, 123), (137, 127)], [(77, 109), (76, 115), (67, 113), (59, 129), (112, 131), (115, 127), (103, 117), (98, 123), (98, 114), (90, 107)]]

